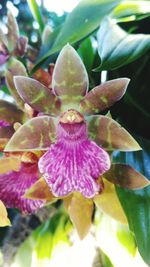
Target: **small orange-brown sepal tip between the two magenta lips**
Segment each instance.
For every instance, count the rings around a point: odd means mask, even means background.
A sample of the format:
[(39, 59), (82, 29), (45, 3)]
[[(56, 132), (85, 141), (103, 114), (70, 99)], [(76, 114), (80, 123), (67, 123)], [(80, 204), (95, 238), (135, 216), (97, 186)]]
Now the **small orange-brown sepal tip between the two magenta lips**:
[(34, 185), (32, 185), (31, 188), (29, 188), (29, 190), (26, 191), (25, 198), (41, 199), (48, 202), (57, 200), (57, 198), (52, 195), (45, 179), (43, 178), (40, 178)]

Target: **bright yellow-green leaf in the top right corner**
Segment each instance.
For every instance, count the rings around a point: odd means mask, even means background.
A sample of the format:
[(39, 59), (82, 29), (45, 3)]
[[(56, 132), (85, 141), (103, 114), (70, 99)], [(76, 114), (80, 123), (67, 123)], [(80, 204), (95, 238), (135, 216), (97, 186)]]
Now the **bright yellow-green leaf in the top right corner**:
[(150, 3), (148, 1), (124, 1), (120, 3), (112, 12), (112, 17), (117, 21), (132, 21), (141, 17), (140, 15), (150, 15)]

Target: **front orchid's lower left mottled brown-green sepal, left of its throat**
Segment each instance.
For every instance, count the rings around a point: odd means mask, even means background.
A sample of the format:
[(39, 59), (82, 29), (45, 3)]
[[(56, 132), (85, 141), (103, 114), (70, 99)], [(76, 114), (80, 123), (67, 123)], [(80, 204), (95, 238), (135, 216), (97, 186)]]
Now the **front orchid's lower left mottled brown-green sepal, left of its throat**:
[(40, 116), (28, 120), (12, 136), (5, 151), (47, 150), (54, 143), (56, 134), (54, 119)]

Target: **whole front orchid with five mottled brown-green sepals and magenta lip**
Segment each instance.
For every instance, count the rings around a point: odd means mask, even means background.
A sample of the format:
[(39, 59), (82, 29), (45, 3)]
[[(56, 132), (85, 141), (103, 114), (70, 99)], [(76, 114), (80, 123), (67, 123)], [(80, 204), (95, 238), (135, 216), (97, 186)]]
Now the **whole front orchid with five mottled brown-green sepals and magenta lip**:
[(28, 77), (16, 76), (14, 82), (22, 99), (41, 115), (22, 125), (5, 151), (47, 151), (38, 166), (54, 196), (77, 191), (93, 198), (103, 190), (99, 177), (110, 168), (105, 150), (140, 149), (113, 119), (96, 115), (124, 95), (129, 79), (108, 81), (87, 93), (86, 69), (70, 45), (57, 59), (52, 91)]

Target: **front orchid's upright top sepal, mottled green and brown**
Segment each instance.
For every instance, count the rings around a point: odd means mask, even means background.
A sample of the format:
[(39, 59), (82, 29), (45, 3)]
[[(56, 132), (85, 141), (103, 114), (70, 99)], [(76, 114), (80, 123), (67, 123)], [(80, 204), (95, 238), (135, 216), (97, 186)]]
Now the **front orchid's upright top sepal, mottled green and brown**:
[(67, 44), (60, 52), (53, 72), (52, 88), (65, 103), (79, 102), (87, 92), (88, 76), (79, 55)]

